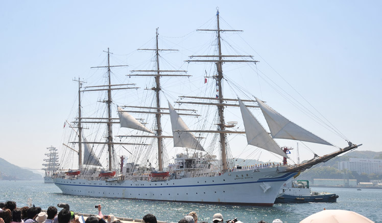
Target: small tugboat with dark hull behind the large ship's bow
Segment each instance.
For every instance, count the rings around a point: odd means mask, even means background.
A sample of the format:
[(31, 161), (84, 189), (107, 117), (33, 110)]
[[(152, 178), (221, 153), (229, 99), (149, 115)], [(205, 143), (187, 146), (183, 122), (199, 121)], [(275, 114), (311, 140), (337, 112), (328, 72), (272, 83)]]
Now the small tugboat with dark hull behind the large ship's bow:
[(337, 202), (335, 193), (315, 192), (309, 188), (308, 180), (292, 182), (292, 187), (281, 188), (275, 203)]

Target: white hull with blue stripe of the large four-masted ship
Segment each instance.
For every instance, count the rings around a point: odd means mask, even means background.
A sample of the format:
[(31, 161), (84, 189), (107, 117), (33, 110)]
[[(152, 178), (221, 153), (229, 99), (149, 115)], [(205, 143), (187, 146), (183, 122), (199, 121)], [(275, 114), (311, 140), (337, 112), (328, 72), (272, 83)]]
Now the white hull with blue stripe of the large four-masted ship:
[(63, 193), (78, 196), (272, 206), (284, 182), (296, 175), (280, 171), (267, 168), (167, 181), (56, 178), (54, 182)]

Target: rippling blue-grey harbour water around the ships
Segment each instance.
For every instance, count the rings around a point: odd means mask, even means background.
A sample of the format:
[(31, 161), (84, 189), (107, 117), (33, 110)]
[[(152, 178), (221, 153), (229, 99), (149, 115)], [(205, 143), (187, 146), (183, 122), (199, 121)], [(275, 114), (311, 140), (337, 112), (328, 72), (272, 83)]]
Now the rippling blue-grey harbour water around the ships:
[[(91, 198), (62, 194), (54, 184), (43, 181), (0, 181), (0, 202), (16, 201), (17, 207), (27, 205), (28, 198), (42, 209), (67, 203), (70, 210), (88, 214), (98, 214), (94, 205), (102, 205), (103, 214), (142, 218), (145, 214), (154, 214), (158, 220), (178, 222), (190, 211), (198, 214), (198, 222), (212, 222), (214, 213), (222, 213), (224, 220), (237, 217), (238, 220), (272, 222), (279, 218), (283, 222), (299, 222), (305, 217), (325, 209), (342, 209), (360, 213), (374, 222), (382, 223), (382, 189), (355, 188), (312, 188), (317, 192), (333, 192), (340, 196), (337, 203), (275, 204), (273, 207), (255, 207), (239, 205), (199, 204), (182, 202), (144, 201), (131, 199)], [(60, 208), (58, 208), (60, 210)]]

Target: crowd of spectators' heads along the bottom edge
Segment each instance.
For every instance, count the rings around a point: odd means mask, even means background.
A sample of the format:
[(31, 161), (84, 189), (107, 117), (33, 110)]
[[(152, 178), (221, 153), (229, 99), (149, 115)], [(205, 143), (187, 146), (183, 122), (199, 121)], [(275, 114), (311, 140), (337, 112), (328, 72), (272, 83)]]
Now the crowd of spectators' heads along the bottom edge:
[[(97, 205), (98, 215), (90, 215), (84, 219), (83, 216), (76, 216), (73, 211), (70, 211), (69, 205), (60, 203), (58, 207), (63, 208), (57, 214), (57, 208), (50, 206), (46, 212), (41, 211), (40, 207), (21, 207), (16, 206), (16, 202), (7, 201), (0, 203), (0, 223), (122, 223), (120, 219), (114, 215), (103, 215), (101, 204)], [(143, 218), (145, 223), (158, 223), (153, 214), (146, 214)], [(189, 212), (186, 216), (178, 221), (178, 223), (198, 223), (198, 215), (195, 211)], [(207, 223), (201, 221), (200, 223)], [(223, 220), (221, 213), (216, 213), (212, 217), (212, 223), (243, 223), (239, 220)], [(258, 223), (267, 223), (259, 221)], [(280, 219), (275, 219), (272, 223), (282, 223)]]

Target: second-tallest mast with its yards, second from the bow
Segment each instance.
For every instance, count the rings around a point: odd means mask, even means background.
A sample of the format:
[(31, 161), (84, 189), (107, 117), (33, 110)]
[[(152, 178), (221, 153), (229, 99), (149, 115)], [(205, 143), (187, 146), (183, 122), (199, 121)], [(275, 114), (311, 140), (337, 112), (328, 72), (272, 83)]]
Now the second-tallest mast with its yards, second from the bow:
[[(155, 58), (156, 58), (156, 70), (132, 70), (132, 72), (155, 72), (155, 74), (132, 74), (129, 76), (154, 76), (155, 77), (155, 87), (151, 88), (150, 90), (153, 90), (155, 92), (155, 98), (156, 98), (156, 109), (155, 114), (155, 119), (156, 119), (156, 137), (158, 139), (158, 171), (163, 171), (163, 160), (162, 160), (162, 155), (163, 155), (163, 144), (162, 144), (162, 138), (163, 137), (171, 137), (171, 136), (164, 136), (162, 135), (162, 124), (161, 124), (161, 115), (163, 114), (169, 114), (169, 113), (162, 113), (161, 110), (163, 108), (160, 107), (160, 77), (163, 76), (190, 76), (190, 75), (182, 75), (182, 74), (162, 74), (163, 72), (187, 72), (185, 70), (160, 70), (159, 69), (159, 51), (178, 51), (177, 49), (159, 49), (158, 47), (158, 29), (156, 29), (156, 39), (155, 39), (155, 49), (138, 49), (138, 50), (154, 50), (155, 51)], [(145, 107), (149, 108), (149, 107)], [(131, 111), (130, 111), (131, 112)], [(134, 111), (133, 111), (134, 112)], [(137, 113), (153, 113), (150, 111), (136, 111)]]

